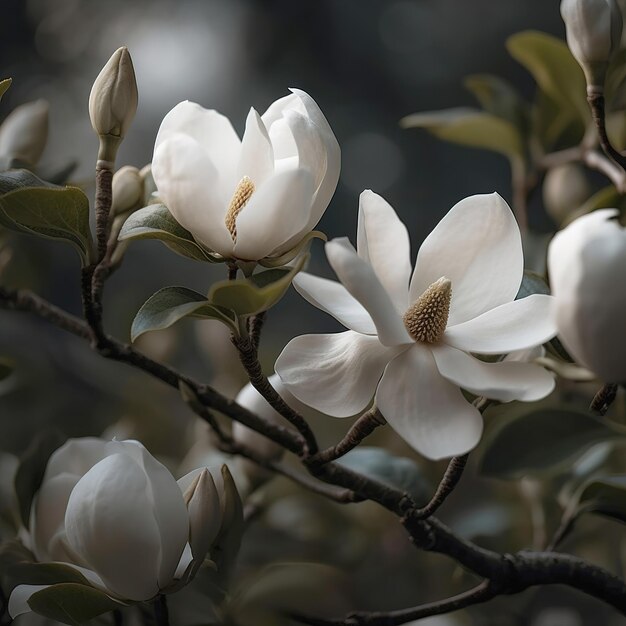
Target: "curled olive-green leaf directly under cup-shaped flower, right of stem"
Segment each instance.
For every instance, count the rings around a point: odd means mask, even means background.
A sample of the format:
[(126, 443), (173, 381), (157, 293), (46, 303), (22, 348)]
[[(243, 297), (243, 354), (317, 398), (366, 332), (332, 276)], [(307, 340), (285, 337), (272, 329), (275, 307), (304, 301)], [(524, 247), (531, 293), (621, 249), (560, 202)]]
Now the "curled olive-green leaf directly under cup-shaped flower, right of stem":
[(293, 267), (265, 270), (249, 278), (223, 280), (209, 291), (209, 302), (237, 315), (256, 315), (273, 307), (284, 295), (294, 276), (309, 258), (302, 255)]

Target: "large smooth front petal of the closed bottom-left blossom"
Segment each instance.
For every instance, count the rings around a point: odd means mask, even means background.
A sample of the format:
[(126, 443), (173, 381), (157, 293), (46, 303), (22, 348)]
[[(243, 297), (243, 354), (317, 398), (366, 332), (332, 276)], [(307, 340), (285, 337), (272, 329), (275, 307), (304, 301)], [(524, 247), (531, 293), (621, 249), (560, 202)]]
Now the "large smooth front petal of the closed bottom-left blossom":
[(113, 454), (78, 482), (65, 514), (67, 539), (110, 591), (148, 600), (159, 591), (161, 536), (141, 466)]

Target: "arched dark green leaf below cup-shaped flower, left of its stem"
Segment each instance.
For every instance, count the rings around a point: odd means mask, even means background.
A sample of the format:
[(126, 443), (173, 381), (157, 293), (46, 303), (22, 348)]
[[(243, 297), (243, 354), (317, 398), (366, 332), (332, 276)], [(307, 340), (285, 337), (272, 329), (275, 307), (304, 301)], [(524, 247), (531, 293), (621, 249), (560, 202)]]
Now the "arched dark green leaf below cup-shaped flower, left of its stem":
[(205, 296), (187, 287), (164, 287), (141, 306), (130, 330), (131, 341), (144, 333), (169, 328), (184, 317), (217, 319), (237, 330), (232, 311), (211, 304)]

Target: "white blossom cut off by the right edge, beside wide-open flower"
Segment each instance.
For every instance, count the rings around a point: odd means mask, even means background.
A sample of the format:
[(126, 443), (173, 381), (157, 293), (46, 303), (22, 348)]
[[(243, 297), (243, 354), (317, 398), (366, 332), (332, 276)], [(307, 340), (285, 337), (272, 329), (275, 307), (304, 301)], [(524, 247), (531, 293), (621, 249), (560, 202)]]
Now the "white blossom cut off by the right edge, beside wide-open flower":
[(553, 315), (567, 351), (608, 383), (626, 381), (626, 229), (602, 209), (578, 218), (548, 248)]

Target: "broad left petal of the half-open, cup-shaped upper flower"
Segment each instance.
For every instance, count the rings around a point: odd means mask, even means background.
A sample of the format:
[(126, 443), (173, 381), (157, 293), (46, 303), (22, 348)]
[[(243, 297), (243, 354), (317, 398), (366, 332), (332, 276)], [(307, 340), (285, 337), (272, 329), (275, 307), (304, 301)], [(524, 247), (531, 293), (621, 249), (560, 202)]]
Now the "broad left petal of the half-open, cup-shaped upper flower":
[(232, 256), (224, 222), (229, 200), (217, 192), (217, 170), (200, 144), (180, 133), (170, 135), (154, 152), (152, 175), (176, 221), (211, 250)]

